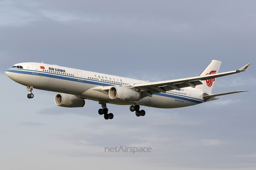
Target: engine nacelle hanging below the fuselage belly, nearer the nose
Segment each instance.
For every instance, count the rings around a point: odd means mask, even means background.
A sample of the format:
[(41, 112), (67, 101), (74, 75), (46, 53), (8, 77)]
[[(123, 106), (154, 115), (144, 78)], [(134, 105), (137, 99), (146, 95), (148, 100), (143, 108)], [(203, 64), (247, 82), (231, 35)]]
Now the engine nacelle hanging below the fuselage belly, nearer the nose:
[(61, 107), (84, 107), (85, 101), (81, 97), (68, 94), (57, 94), (55, 104)]

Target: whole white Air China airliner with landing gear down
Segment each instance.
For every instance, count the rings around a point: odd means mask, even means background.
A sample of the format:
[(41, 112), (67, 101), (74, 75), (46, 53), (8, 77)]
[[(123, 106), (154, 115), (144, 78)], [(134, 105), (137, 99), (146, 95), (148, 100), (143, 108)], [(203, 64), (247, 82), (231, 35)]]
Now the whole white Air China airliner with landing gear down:
[(98, 113), (106, 120), (113, 119), (107, 104), (131, 105), (136, 116), (145, 116), (140, 105), (155, 108), (178, 108), (193, 106), (219, 99), (219, 96), (242, 91), (211, 94), (215, 79), (246, 71), (246, 64), (239, 70), (218, 73), (221, 61), (212, 60), (197, 77), (148, 82), (90, 72), (45, 63), (18, 63), (6, 70), (13, 81), (27, 86), (27, 98), (34, 98), (32, 90), (58, 92), (55, 104), (61, 107), (83, 107), (85, 99), (98, 101), (102, 108)]

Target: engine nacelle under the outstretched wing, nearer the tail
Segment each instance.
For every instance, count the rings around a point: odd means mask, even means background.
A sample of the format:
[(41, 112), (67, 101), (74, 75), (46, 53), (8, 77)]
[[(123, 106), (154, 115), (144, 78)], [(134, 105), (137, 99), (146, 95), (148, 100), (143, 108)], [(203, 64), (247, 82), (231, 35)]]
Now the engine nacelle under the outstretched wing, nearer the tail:
[(138, 101), (140, 94), (126, 87), (114, 86), (109, 89), (109, 97), (121, 101)]

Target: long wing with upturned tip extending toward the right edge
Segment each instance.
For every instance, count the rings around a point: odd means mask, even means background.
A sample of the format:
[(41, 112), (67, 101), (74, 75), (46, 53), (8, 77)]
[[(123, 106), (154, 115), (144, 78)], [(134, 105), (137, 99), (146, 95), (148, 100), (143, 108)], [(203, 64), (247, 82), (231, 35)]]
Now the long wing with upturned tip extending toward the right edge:
[(218, 74), (208, 74), (201, 75), (197, 77), (184, 78), (184, 79), (176, 79), (176, 80), (167, 80), (167, 81), (157, 81), (157, 82), (148, 82), (148, 83), (139, 83), (133, 84), (132, 86), (135, 88), (141, 89), (141, 96), (152, 96), (153, 94), (159, 92), (166, 92), (169, 90), (180, 90), (180, 88), (184, 87), (193, 87), (195, 88), (197, 85), (202, 84), (201, 80), (209, 80), (214, 78), (219, 78), (225, 75), (235, 74), (239, 72), (246, 71), (251, 64), (246, 64), (239, 70), (223, 72)]

